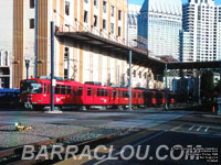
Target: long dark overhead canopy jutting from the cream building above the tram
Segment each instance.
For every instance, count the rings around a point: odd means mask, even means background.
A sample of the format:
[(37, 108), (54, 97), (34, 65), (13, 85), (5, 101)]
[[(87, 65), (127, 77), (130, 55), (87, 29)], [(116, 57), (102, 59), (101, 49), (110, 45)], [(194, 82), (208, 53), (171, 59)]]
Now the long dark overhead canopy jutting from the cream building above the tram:
[(90, 32), (56, 32), (61, 38), (71, 38), (77, 43), (97, 46), (108, 52), (115, 52), (119, 58), (128, 61), (129, 51), (133, 52), (131, 61), (134, 65), (149, 67), (155, 74), (164, 74), (166, 64), (168, 69), (200, 69), (200, 68), (221, 68), (221, 62), (165, 62), (148, 56), (148, 51), (127, 46), (118, 42), (95, 35)]

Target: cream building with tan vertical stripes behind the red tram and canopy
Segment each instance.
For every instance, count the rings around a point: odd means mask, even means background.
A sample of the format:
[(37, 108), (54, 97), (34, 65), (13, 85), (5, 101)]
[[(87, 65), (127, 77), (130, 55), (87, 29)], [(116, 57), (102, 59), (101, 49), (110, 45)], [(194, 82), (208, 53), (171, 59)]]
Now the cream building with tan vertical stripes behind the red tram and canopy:
[[(14, 87), (27, 77), (25, 56), (30, 76), (50, 75), (51, 21), (56, 33), (55, 76), (127, 86), (127, 57), (97, 44), (127, 44), (127, 0), (14, 0), (13, 11)], [(150, 68), (134, 64), (133, 87), (161, 88), (162, 82), (154, 80)]]

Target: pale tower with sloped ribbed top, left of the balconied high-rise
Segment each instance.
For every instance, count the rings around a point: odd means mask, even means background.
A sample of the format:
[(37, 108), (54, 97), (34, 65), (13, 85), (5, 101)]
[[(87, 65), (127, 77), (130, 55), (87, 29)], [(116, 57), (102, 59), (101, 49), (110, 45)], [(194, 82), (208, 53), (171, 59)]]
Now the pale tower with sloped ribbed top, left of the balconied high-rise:
[(179, 59), (181, 19), (181, 0), (145, 0), (138, 16), (138, 35), (147, 38), (151, 56)]

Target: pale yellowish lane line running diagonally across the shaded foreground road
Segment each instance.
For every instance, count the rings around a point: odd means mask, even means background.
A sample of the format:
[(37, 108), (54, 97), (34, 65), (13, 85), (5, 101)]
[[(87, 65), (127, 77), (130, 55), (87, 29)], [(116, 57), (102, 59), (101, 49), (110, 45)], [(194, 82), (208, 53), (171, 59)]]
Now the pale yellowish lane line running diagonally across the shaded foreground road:
[[(148, 142), (148, 141), (150, 141), (150, 140), (157, 138), (157, 136), (160, 136), (161, 134), (164, 134), (164, 133), (166, 133), (166, 132), (167, 132), (167, 131), (160, 131), (160, 132), (158, 132), (158, 133), (156, 133), (156, 134), (149, 136), (148, 139), (146, 139), (146, 140), (144, 140), (144, 141), (140, 141), (140, 142), (134, 144), (133, 146), (135, 147), (135, 146), (137, 146), (137, 145), (139, 145), (139, 144), (141, 144), (141, 143)], [(120, 151), (120, 152), (117, 152), (117, 153), (113, 154), (112, 156), (108, 156), (107, 158), (104, 158), (104, 160), (102, 160), (102, 161), (95, 163), (94, 165), (98, 165), (98, 164), (101, 164), (101, 163), (104, 163), (104, 162), (108, 161), (109, 158), (115, 157), (116, 155), (119, 155), (120, 153), (122, 153), (122, 154), (125, 153), (125, 152), (128, 151), (128, 150), (129, 150), (129, 148), (123, 150), (123, 151)]]

